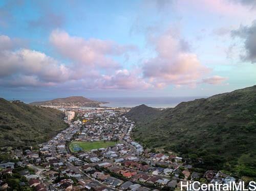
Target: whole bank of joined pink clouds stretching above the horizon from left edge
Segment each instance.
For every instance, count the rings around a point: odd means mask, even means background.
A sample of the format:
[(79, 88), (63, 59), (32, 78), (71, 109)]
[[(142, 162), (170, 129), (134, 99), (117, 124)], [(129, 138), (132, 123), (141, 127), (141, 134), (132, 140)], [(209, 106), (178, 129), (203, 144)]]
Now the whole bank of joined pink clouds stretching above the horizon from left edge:
[[(125, 68), (115, 57), (124, 57), (136, 46), (111, 40), (84, 39), (53, 30), (54, 50), (69, 64), (45, 53), (20, 48), (19, 40), (0, 36), (0, 84), (5, 87), (55, 87), (62, 89), (154, 89), (169, 85), (195, 87), (221, 84), (226, 78), (203, 77), (211, 71), (177, 31), (148, 38), (156, 53), (137, 67)], [(129, 68), (129, 69), (128, 69)]]

